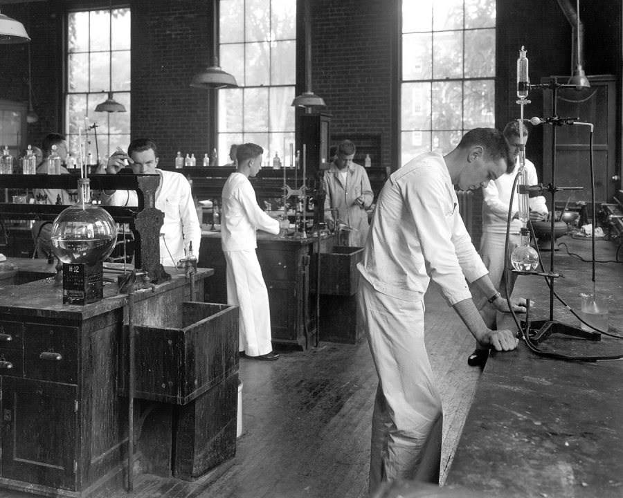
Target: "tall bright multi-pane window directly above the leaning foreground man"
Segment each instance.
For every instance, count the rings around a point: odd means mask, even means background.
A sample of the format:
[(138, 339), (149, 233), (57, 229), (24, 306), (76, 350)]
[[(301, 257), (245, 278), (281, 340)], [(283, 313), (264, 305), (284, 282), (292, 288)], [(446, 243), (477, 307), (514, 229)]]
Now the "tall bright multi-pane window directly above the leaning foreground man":
[(403, 0), (401, 164), (495, 124), (495, 0)]

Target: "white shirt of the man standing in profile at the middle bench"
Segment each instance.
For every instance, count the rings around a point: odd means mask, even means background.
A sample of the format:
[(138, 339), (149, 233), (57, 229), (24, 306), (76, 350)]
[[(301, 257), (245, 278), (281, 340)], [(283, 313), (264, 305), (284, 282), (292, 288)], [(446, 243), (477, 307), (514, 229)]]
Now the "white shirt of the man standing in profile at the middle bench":
[(224, 251), (258, 247), (255, 230), (279, 233), (279, 222), (260, 209), (249, 178), (233, 172), (223, 187), (221, 245)]

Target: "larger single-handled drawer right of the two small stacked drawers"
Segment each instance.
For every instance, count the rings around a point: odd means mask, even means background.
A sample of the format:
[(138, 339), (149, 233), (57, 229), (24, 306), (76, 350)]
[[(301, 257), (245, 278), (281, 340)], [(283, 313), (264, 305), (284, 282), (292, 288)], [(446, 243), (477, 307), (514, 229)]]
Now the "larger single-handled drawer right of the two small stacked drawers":
[(77, 383), (78, 328), (24, 324), (24, 376)]

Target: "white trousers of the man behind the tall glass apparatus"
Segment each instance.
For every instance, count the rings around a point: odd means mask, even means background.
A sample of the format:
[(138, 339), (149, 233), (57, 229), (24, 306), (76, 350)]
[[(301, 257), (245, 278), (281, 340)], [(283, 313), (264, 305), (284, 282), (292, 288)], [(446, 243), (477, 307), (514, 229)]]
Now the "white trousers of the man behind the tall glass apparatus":
[[(512, 270), (510, 255), (521, 241), (519, 234), (510, 234), (508, 241), (508, 252), (506, 260), (508, 262), (508, 269)], [(506, 244), (506, 234), (483, 232), (480, 237), (480, 257), (482, 262), (489, 270), (489, 278), (493, 282), (494, 286), (500, 291), (502, 297), (511, 295), (515, 286), (517, 275), (509, 273), (509, 288), (506, 285), (506, 275), (504, 274), (504, 247)], [(485, 321), (485, 325), (489, 329), (497, 329), (498, 311), (493, 304), (487, 302), (487, 299), (491, 296), (482, 295), (480, 290), (476, 286), (471, 286), (471, 295), (474, 297), (474, 302), (482, 320)]]

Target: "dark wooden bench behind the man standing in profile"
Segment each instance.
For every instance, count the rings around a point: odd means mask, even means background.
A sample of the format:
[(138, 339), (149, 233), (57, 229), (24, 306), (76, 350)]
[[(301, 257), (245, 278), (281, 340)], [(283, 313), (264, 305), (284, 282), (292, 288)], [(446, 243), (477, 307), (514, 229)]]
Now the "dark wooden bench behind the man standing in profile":
[[(332, 235), (320, 238), (320, 252), (334, 246)], [(307, 349), (316, 344), (316, 295), (311, 275), (318, 239), (280, 239), (277, 235), (258, 232), (258, 260), (268, 288), (271, 306), (272, 342), (275, 349)], [(206, 282), (206, 301), (227, 302), (225, 255), (220, 231), (201, 232), (199, 266), (214, 269)]]

